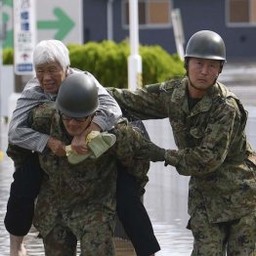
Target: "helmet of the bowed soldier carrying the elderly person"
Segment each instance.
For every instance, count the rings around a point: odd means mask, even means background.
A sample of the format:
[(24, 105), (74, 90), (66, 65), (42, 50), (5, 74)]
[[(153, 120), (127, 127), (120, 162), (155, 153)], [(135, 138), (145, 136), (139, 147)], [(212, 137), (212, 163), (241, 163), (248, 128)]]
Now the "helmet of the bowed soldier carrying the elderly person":
[(68, 75), (59, 90), (56, 108), (72, 117), (85, 117), (99, 107), (98, 88), (86, 73)]

